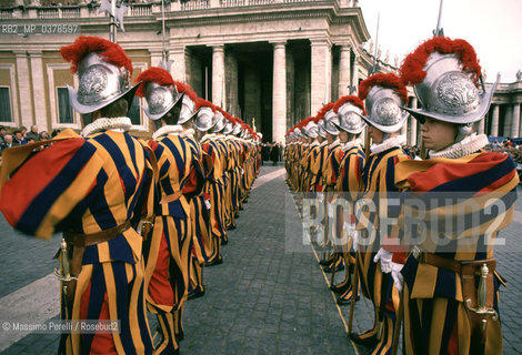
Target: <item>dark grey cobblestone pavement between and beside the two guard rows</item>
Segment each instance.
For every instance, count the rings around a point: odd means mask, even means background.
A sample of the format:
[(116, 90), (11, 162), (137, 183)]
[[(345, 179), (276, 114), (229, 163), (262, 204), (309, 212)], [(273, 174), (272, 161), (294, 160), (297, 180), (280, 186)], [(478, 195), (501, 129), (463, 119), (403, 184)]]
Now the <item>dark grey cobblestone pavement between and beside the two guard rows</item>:
[[(277, 173), (281, 169), (281, 165), (262, 168), (237, 220), (238, 227), (229, 231), (229, 244), (223, 246), (224, 263), (204, 270), (207, 294), (187, 303), (181, 354), (365, 353), (349, 342), (345, 326), (349, 307), (335, 305), (312, 247), (297, 248), (288, 242), (301, 237), (301, 222), (284, 174)], [(522, 199), (516, 202), (516, 210), (520, 212), (515, 213), (515, 222), (501, 234), (505, 245), (498, 246), (495, 252), (499, 272), (508, 280), (508, 287), (501, 293), (504, 354), (522, 354), (519, 302)], [(0, 229), (0, 300), (3, 301), (52, 272), (58, 265), (52, 256), (59, 236), (44, 242), (20, 235), (3, 217)], [(342, 277), (343, 273), (339, 273), (338, 281)], [(50, 287), (56, 287), (58, 293), (58, 284)], [(2, 302), (0, 311), (1, 307)], [(371, 305), (362, 300), (355, 306), (354, 331), (371, 325)], [(152, 318), (151, 328), (155, 328)], [(0, 349), (4, 349), (1, 355), (54, 354), (58, 346), (57, 334), (30, 334), (6, 348), (1, 332)]]

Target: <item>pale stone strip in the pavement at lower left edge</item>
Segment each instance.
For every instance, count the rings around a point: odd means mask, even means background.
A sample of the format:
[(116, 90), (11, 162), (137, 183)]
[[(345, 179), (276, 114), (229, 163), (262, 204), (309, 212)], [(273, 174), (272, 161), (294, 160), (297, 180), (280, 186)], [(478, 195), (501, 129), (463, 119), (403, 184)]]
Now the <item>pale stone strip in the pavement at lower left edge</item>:
[[(0, 322), (2, 324), (42, 324), (60, 312), (59, 283), (49, 274), (29, 285), (0, 298)], [(0, 352), (29, 335), (29, 331), (0, 332)]]

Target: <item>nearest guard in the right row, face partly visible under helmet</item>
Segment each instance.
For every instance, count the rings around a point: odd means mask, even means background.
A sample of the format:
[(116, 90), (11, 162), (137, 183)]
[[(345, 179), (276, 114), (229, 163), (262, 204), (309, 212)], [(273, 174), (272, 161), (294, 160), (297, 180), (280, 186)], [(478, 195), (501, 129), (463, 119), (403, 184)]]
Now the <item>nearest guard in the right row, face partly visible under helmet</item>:
[[(484, 88), (473, 47), (442, 37), (409, 54), (401, 74), (419, 99), (406, 110), (422, 124), (429, 159), (399, 163), (395, 182), (410, 192), (406, 205), (433, 203), (429, 220), (418, 217), (424, 233), (405, 230), (405, 250), (393, 254), (411, 251), (401, 271), (404, 352), (502, 354), (494, 239), (511, 223), (519, 175), (510, 154), (484, 152), (488, 138), (476, 133), (496, 83)], [(446, 215), (475, 222), (456, 227)]]

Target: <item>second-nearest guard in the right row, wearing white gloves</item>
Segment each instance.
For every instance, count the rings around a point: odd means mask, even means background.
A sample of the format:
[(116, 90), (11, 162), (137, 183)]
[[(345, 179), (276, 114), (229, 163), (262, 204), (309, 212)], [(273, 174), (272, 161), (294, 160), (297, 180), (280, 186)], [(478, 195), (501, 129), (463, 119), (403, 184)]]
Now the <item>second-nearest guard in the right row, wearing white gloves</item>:
[[(355, 343), (372, 347), (372, 354), (391, 354), (400, 300), (395, 284), (400, 285), (400, 282), (395, 281), (398, 266), (392, 262), (392, 253), (382, 243), (390, 239), (393, 230), (381, 221), (381, 216), (392, 219), (400, 213), (399, 206), (388, 204), (388, 196), (398, 192), (395, 165), (409, 159), (401, 149), (404, 136), (399, 134), (408, 118), (408, 112), (401, 110), (408, 103), (408, 92), (395, 74), (379, 73), (361, 82), (359, 98), (365, 100), (367, 115), (362, 119), (368, 123), (372, 140), (371, 154), (362, 171), (361, 199), (373, 203), (375, 209), (361, 212), (359, 201), (355, 204), (357, 230), (361, 231), (357, 241), (355, 278), (361, 282), (362, 294), (373, 303), (374, 326), (368, 332), (351, 334), (351, 337)], [(361, 215), (365, 220), (362, 223)]]

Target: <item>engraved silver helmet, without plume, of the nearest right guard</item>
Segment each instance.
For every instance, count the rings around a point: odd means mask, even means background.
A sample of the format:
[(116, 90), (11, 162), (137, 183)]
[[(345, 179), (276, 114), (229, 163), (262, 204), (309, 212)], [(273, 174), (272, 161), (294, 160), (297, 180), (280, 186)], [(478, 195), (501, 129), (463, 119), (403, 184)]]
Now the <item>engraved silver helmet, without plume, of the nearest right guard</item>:
[(403, 108), (415, 118), (469, 124), (482, 120), (491, 105), (496, 82), (481, 91), (473, 73), (462, 69), (456, 53), (433, 51), (422, 68), (424, 80), (413, 85), (421, 109)]

